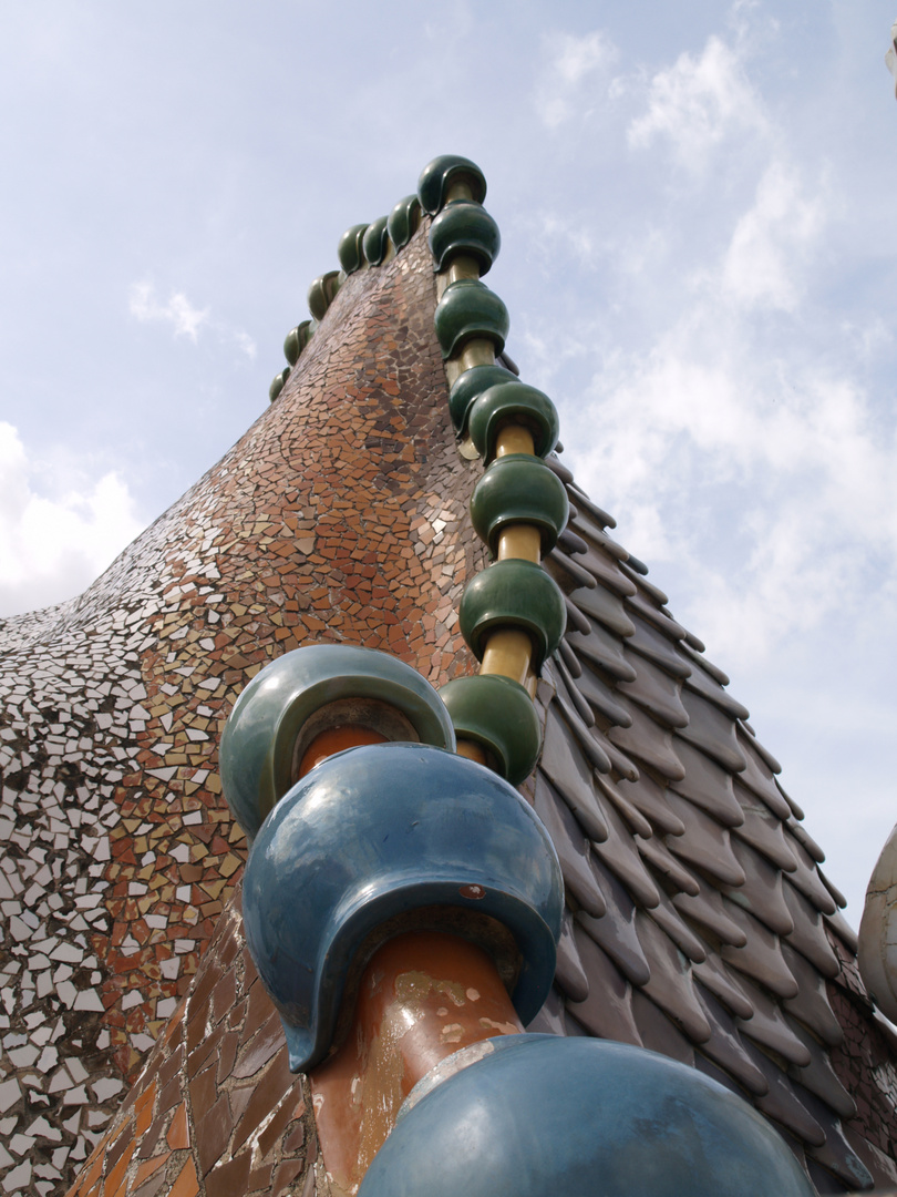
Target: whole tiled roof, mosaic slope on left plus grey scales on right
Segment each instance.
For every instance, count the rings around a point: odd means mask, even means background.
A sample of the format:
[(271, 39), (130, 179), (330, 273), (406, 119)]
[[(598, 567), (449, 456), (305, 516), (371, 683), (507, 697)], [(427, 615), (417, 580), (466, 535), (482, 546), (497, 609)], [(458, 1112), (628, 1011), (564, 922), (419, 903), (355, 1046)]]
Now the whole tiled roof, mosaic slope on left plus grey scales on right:
[[(0, 627), (8, 1192), (63, 1191), (92, 1143), (80, 1197), (324, 1191), (243, 949), (215, 752), (245, 680), (304, 642), (385, 649), (435, 683), (474, 667), (454, 612), (484, 563), (480, 468), (448, 419), (428, 227), (316, 280), (319, 324), (287, 339), (291, 370), (234, 449), (79, 600)], [(382, 256), (365, 229), (342, 257)], [(523, 791), (567, 912), (531, 1029), (701, 1069), (783, 1131), (820, 1192), (867, 1186), (867, 1168), (892, 1183), (893, 1046), (822, 852), (725, 674), (548, 462), (572, 504), (545, 563), (568, 624)]]

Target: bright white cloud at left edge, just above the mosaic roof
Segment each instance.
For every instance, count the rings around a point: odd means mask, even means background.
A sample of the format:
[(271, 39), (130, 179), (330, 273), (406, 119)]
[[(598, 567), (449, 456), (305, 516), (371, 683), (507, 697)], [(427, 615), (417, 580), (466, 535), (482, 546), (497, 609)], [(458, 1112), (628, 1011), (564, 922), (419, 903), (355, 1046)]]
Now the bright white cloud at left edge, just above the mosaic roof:
[(44, 475), (0, 421), (0, 615), (73, 597), (142, 530), (117, 473), (75, 474), (78, 485), (56, 496), (32, 488)]

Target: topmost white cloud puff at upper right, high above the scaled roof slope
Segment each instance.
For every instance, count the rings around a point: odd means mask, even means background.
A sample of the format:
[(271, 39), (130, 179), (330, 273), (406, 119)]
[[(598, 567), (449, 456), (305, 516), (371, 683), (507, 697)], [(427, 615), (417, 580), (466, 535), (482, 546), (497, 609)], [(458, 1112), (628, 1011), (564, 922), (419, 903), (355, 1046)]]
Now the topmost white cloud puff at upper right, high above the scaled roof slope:
[(629, 145), (641, 150), (666, 138), (679, 163), (695, 172), (725, 138), (767, 123), (739, 56), (716, 36), (708, 38), (698, 59), (681, 54), (672, 67), (659, 71), (647, 104), (629, 124)]

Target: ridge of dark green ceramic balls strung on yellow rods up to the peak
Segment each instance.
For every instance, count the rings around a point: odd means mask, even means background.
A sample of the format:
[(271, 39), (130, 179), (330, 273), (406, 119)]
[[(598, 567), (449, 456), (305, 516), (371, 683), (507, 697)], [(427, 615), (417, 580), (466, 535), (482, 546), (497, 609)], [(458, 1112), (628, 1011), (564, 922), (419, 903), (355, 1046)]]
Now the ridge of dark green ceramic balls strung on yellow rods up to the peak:
[[(466, 158), (435, 158), (421, 172), (417, 194), (434, 218), (428, 238), (437, 275), (434, 324), (452, 421), (462, 438), (466, 435), (462, 455), (486, 464), (470, 514), (493, 557), (465, 588), (458, 610), (480, 675), (458, 678), (440, 693), (458, 751), (519, 784), (542, 748), (536, 681), (567, 625), (563, 594), (542, 567), (569, 521), (563, 479), (545, 462), (557, 443), (557, 409), (496, 360), (509, 320), (481, 281), (501, 245), (498, 225), (482, 207), (482, 171)], [(512, 771), (506, 759), (511, 727)], [(610, 767), (603, 753), (602, 762)]]

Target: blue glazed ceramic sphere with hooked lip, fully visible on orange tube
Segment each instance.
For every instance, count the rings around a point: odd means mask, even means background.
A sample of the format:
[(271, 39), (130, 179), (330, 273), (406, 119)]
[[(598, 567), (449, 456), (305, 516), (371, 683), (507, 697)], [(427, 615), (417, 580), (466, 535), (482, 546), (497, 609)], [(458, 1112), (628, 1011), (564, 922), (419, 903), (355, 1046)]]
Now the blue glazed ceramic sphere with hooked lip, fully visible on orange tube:
[[(281, 1013), (289, 1067), (330, 1050), (350, 970), (409, 918), (487, 916), (520, 955), (511, 998), (526, 1023), (554, 978), (563, 882), (538, 816), (490, 770), (427, 745), (349, 748), (307, 773), (262, 825), (243, 918)], [(364, 961), (362, 961), (364, 962)]]

